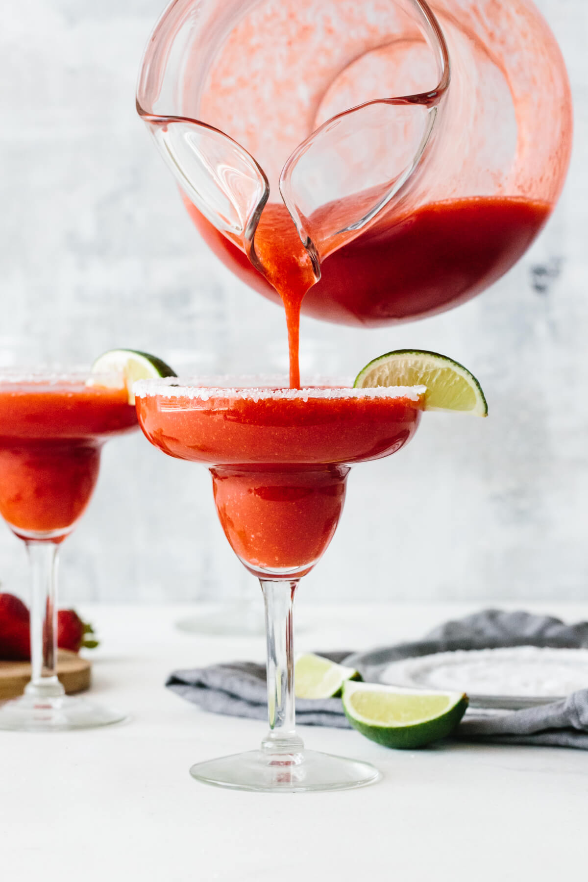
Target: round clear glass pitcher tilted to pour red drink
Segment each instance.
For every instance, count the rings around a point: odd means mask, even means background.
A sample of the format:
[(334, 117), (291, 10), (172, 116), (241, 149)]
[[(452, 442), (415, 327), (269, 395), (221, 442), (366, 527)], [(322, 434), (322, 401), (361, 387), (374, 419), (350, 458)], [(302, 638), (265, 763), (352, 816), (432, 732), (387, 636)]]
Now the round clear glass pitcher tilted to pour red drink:
[(344, 324), (487, 288), (569, 162), (569, 83), (529, 0), (174, 0), (137, 104), (234, 273)]

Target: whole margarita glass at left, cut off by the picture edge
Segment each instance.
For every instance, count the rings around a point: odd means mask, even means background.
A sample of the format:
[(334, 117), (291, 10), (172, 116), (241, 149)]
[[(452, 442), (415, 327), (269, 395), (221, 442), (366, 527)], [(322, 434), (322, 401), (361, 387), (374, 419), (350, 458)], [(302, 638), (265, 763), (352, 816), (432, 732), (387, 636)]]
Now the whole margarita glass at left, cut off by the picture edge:
[(31, 681), (0, 729), (86, 729), (115, 710), (66, 696), (57, 679), (57, 552), (86, 510), (110, 437), (137, 427), (121, 377), (0, 371), (0, 514), (31, 564)]

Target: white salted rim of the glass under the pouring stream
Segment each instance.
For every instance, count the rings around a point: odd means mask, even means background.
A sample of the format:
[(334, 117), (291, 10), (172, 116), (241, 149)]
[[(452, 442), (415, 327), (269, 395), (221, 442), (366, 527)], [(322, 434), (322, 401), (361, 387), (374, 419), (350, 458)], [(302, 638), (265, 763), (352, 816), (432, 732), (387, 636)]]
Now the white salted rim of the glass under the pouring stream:
[(301, 389), (290, 389), (283, 376), (154, 377), (133, 384), (135, 398), (234, 398), (242, 400), (309, 400), (342, 398), (405, 398), (418, 401), (424, 385), (370, 386), (355, 389), (349, 377), (312, 377)]

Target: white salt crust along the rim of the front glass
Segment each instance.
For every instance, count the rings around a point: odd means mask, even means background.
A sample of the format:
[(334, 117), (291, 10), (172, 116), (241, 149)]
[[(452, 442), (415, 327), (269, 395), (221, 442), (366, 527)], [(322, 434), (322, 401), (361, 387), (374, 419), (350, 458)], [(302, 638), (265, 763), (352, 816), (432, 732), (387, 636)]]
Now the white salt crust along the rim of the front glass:
[[(263, 377), (264, 378), (264, 377)], [(218, 377), (214, 377), (218, 382)], [(352, 386), (331, 386), (328, 389), (309, 386), (303, 389), (275, 389), (264, 386), (219, 386), (195, 385), (193, 381), (182, 377), (157, 377), (156, 379), (137, 380), (133, 384), (135, 398), (187, 398), (189, 400), (208, 401), (212, 398), (235, 400), (302, 400), (309, 399), (345, 399), (345, 398), (406, 398), (418, 401), (427, 392), (424, 385), (415, 386), (372, 386), (365, 389), (354, 389)]]

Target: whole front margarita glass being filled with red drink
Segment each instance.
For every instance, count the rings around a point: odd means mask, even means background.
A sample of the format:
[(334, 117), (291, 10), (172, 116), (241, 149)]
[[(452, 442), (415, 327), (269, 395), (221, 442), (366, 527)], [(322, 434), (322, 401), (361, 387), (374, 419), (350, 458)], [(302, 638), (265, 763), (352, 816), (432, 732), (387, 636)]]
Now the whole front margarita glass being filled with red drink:
[(138, 421), (161, 451), (209, 467), (220, 523), (265, 602), (270, 731), (261, 749), (192, 766), (243, 790), (339, 790), (374, 766), (306, 751), (294, 729), (294, 594), (324, 554), (355, 463), (397, 452), (421, 418), (424, 386), (287, 389), (177, 377), (134, 385)]

